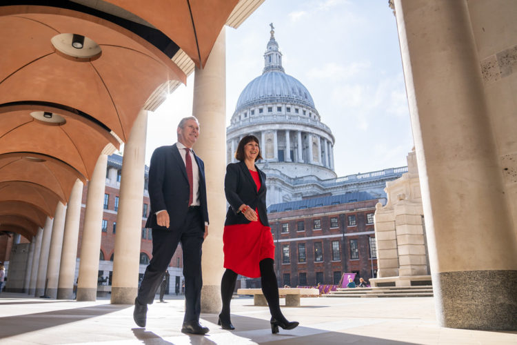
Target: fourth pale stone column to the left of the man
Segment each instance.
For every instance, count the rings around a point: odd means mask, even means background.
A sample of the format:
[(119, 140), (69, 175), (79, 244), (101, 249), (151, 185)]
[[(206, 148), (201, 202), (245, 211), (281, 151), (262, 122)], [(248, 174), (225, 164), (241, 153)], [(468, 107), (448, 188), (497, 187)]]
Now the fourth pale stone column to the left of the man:
[(59, 201), (57, 203), (56, 215), (54, 216), (54, 224), (52, 224), (52, 238), (50, 239), (50, 253), (48, 255), (48, 283), (45, 295), (50, 298), (57, 297), (61, 249), (63, 248), (63, 233), (65, 230), (65, 214), (66, 206)]

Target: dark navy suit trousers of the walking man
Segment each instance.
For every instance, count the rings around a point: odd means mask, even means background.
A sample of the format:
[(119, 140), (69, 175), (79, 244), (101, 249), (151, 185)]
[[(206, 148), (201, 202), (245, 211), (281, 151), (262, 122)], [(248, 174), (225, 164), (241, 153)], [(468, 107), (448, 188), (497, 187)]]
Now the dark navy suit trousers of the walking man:
[(199, 321), (201, 313), (201, 247), (205, 223), (200, 207), (190, 207), (185, 224), (179, 230), (152, 229), (152, 259), (149, 262), (139, 293), (136, 297), (141, 304), (152, 304), (163, 272), (169, 266), (172, 255), (179, 243), (183, 250), (183, 277), (185, 277), (185, 317), (183, 322)]

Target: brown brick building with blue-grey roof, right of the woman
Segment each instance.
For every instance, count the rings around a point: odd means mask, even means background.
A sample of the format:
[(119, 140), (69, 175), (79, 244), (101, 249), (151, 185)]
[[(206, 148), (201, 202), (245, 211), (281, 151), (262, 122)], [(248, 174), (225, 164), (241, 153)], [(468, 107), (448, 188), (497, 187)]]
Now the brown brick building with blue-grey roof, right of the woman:
[(338, 284), (343, 273), (356, 273), (356, 282), (376, 277), (377, 203), (358, 192), (271, 205), (278, 284)]

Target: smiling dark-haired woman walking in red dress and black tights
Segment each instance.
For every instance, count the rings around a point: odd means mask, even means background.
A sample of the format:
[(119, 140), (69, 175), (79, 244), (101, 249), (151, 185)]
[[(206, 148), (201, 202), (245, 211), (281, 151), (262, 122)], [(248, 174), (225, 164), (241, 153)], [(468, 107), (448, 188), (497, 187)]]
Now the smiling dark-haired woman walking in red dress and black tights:
[(270, 307), (272, 333), (278, 333), (278, 326), (292, 329), (298, 322), (285, 319), (278, 301), (273, 236), (265, 205), (265, 173), (255, 166), (255, 161), (262, 158), (259, 139), (254, 135), (243, 137), (235, 158), (239, 162), (228, 164), (225, 176), (225, 195), (230, 208), (223, 234), (226, 270), (221, 281), (223, 310), (218, 324), (224, 329), (234, 329), (230, 301), (237, 275), (244, 275), (261, 277), (262, 291)]

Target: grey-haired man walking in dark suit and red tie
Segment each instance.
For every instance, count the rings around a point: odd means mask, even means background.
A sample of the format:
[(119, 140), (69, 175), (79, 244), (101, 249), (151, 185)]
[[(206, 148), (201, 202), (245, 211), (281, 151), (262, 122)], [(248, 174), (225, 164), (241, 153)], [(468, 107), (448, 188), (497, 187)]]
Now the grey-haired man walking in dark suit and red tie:
[(181, 242), (185, 277), (185, 317), (181, 332), (205, 334), (201, 313), (201, 246), (208, 235), (205, 166), (191, 150), (199, 136), (195, 117), (181, 119), (178, 142), (154, 150), (149, 168), (151, 211), (146, 228), (152, 228), (152, 259), (145, 269), (134, 300), (134, 322), (145, 327), (152, 304), (172, 255)]

